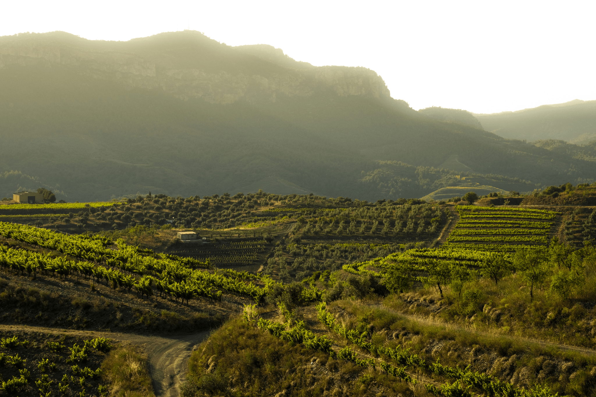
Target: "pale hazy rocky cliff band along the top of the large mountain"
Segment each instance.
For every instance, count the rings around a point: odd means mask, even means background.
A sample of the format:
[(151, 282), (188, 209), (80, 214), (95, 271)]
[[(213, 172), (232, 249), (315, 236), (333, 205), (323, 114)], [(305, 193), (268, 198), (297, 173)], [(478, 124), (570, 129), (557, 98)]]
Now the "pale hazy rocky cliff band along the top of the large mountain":
[[(162, 89), (181, 99), (203, 98), (215, 104), (241, 100), (277, 101), (283, 96), (310, 96), (321, 90), (331, 90), (339, 96), (390, 97), (383, 79), (370, 69), (313, 67), (306, 62), (292, 60), (281, 49), (262, 45), (232, 48), (207, 39), (198, 32), (163, 33), (169, 35), (167, 38), (174, 46), (176, 38), (181, 38), (179, 48), (173, 50), (159, 47), (157, 39), (153, 38), (160, 35), (126, 43), (97, 43), (77, 36), (64, 36), (64, 33), (58, 38), (47, 35), (51, 34), (1, 37), (0, 70), (30, 65), (64, 67), (96, 79), (118, 82), (128, 88)], [(141, 48), (139, 40), (145, 40), (141, 54), (135, 51)], [(152, 45), (156, 48), (151, 48)], [(189, 46), (195, 55), (203, 57), (201, 61), (194, 64), (194, 58), (181, 61), (180, 53)], [(178, 54), (172, 55), (176, 49)], [(226, 57), (234, 57), (238, 64), (235, 70), (228, 67), (218, 71), (212, 65), (204, 67), (210, 59), (221, 61)], [(214, 64), (217, 62), (214, 61)], [(243, 67), (243, 64), (251, 67)], [(272, 64), (274, 67), (271, 67)]]

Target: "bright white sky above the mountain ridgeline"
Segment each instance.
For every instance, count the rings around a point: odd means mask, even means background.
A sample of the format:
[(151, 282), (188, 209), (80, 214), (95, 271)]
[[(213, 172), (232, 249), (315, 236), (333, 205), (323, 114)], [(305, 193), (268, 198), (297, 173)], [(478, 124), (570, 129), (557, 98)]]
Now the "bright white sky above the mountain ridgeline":
[(190, 29), (313, 65), (365, 66), (412, 108), (596, 99), (594, 1), (3, 1), (0, 36), (129, 40)]

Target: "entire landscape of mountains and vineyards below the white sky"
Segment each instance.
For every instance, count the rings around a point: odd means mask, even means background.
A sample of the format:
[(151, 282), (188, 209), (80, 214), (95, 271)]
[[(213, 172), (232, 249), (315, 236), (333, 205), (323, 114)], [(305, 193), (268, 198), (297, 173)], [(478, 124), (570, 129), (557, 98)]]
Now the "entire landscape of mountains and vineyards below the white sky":
[(402, 94), (190, 29), (1, 36), (0, 393), (596, 396), (596, 101)]

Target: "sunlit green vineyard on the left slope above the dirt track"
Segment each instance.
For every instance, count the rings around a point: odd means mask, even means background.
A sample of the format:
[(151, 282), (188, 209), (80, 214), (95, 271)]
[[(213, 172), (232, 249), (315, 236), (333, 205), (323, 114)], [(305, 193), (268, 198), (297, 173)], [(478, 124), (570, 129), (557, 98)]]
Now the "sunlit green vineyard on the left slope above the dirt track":
[[(67, 256), (39, 254), (32, 251), (0, 246), (0, 266), (26, 272), (54, 273), (67, 277), (93, 278), (128, 290), (135, 288), (141, 296), (159, 293), (182, 301), (205, 296), (219, 300), (222, 291), (248, 296), (259, 302), (275, 282), (267, 276), (259, 277), (263, 287), (238, 277), (212, 273), (200, 268), (209, 262), (175, 255), (154, 254), (150, 250), (114, 243), (105, 237), (70, 236), (20, 224), (0, 223), (0, 235), (48, 248)], [(70, 260), (68, 257), (77, 258)]]

